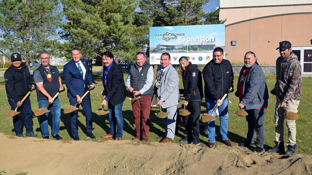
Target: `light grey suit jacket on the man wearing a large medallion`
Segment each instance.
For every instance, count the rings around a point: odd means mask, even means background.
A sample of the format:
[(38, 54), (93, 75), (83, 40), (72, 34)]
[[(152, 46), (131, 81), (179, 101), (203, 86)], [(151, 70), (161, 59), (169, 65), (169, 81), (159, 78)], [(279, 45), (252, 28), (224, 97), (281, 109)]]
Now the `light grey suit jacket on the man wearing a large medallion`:
[[(159, 65), (157, 68), (157, 76), (161, 71), (162, 66)], [(155, 81), (155, 83), (157, 80)], [(155, 87), (154, 83), (154, 87)], [(162, 98), (164, 102), (162, 103), (161, 107), (168, 108), (171, 106), (178, 105), (179, 102), (179, 75), (176, 69), (169, 64), (163, 78), (161, 79), (161, 86), (157, 90), (158, 99)]]

